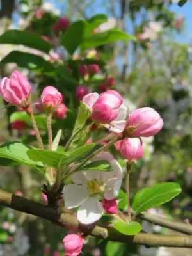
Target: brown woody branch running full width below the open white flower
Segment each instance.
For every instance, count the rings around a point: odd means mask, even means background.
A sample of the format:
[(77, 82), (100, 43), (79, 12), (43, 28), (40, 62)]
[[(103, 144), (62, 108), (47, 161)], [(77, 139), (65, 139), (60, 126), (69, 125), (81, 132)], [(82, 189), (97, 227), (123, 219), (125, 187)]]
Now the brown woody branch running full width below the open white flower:
[(120, 241), (124, 243), (143, 244), (146, 246), (166, 246), (192, 248), (192, 236), (163, 236), (147, 233), (140, 233), (136, 236), (125, 236), (113, 228), (104, 228), (97, 225), (82, 225), (77, 218), (70, 214), (60, 212), (49, 206), (42, 205), (21, 196), (17, 196), (0, 189), (0, 205), (10, 207), (17, 211), (26, 212), (49, 220), (61, 227), (68, 227), (72, 230), (79, 230), (85, 235), (92, 235), (101, 239)]

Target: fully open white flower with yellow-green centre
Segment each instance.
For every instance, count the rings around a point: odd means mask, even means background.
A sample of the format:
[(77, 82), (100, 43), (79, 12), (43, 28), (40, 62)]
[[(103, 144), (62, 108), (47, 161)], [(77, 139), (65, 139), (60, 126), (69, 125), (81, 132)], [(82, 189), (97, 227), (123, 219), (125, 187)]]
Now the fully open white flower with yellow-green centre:
[(77, 219), (83, 224), (91, 224), (99, 220), (104, 213), (102, 198), (116, 198), (122, 184), (122, 168), (109, 152), (101, 152), (92, 161), (107, 160), (111, 164), (111, 172), (79, 171), (71, 176), (74, 184), (63, 188), (65, 207), (79, 207)]

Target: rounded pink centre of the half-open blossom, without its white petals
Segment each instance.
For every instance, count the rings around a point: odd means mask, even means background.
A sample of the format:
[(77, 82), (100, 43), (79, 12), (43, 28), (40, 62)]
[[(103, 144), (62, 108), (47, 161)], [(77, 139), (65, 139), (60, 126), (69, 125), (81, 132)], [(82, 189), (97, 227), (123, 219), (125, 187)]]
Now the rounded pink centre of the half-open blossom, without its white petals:
[(99, 123), (110, 123), (118, 115), (118, 108), (122, 103), (121, 95), (114, 90), (101, 93), (93, 105), (92, 118)]

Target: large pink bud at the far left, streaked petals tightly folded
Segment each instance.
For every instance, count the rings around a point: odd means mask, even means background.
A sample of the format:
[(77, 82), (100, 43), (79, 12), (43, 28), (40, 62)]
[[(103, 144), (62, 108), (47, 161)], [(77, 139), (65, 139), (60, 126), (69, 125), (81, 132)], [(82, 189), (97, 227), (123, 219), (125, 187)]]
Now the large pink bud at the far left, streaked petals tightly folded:
[(19, 71), (13, 71), (10, 78), (4, 77), (0, 83), (0, 95), (6, 102), (26, 108), (29, 106), (31, 86)]

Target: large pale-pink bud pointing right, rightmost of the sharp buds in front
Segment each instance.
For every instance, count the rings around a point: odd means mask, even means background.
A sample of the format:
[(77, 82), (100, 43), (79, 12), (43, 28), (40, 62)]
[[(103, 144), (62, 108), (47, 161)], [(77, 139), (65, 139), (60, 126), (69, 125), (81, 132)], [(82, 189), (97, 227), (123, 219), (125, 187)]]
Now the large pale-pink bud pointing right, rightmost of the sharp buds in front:
[(163, 127), (163, 119), (152, 108), (138, 108), (129, 115), (126, 127), (133, 127), (131, 136), (154, 136)]

